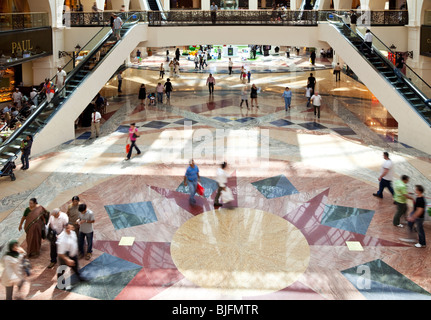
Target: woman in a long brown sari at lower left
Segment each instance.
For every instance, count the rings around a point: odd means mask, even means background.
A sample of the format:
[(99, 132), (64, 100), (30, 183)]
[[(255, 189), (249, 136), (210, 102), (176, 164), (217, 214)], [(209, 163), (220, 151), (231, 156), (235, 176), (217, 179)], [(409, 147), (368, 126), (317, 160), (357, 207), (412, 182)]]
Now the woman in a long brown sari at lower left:
[(42, 231), (45, 229), (47, 216), (49, 216), (49, 212), (37, 203), (36, 198), (31, 198), (29, 206), (25, 209), (18, 227), (18, 230), (21, 231), (22, 225), (24, 224), (29, 258), (36, 258), (40, 254)]

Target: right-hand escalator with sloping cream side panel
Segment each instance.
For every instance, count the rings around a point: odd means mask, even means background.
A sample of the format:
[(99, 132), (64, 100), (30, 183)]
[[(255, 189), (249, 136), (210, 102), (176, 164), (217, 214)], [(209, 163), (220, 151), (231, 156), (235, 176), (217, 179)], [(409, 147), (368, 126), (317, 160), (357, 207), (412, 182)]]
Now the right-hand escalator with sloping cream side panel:
[[(361, 28), (356, 32), (341, 17), (328, 13), (321, 23), (321, 40), (326, 41), (355, 72), (398, 122), (398, 141), (431, 153), (431, 87), (408, 65), (398, 70), (388, 56), (395, 54), (375, 34), (367, 48)], [(362, 33), (361, 33), (362, 32)]]

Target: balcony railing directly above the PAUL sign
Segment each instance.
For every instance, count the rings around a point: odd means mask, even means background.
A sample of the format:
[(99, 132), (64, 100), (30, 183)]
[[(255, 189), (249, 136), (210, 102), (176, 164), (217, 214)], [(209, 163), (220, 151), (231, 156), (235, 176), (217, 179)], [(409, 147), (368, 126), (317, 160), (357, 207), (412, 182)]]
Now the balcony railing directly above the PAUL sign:
[(0, 13), (0, 32), (49, 26), (47, 12)]

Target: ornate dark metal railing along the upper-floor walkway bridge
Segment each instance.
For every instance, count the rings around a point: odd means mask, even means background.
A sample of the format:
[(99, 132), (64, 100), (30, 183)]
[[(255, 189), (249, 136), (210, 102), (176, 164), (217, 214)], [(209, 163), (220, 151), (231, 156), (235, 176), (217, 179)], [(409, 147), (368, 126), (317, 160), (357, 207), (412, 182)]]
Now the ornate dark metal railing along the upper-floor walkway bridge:
[[(143, 11), (140, 22), (149, 26), (201, 25), (278, 25), (317, 26), (326, 22), (328, 13), (344, 14), (334, 10), (218, 10), (215, 21), (209, 10)], [(66, 13), (65, 25), (71, 27), (109, 25), (112, 12)], [(359, 21), (371, 26), (402, 26), (408, 24), (406, 10), (356, 11)], [(124, 13), (123, 13), (124, 14)]]

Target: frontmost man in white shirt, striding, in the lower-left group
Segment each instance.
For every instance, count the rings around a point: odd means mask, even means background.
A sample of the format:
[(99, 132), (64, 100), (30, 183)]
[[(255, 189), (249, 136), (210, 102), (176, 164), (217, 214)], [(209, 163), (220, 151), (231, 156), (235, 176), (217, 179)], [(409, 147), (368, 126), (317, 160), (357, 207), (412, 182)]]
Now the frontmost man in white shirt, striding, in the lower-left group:
[[(73, 224), (68, 224), (64, 231), (57, 238), (57, 253), (60, 266), (57, 269), (57, 279), (64, 273), (64, 266), (72, 268), (80, 281), (84, 280), (81, 277), (78, 267), (78, 240)], [(57, 287), (60, 283), (57, 283)], [(59, 288), (62, 289), (62, 288)]]

